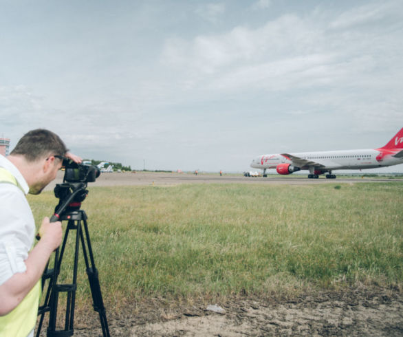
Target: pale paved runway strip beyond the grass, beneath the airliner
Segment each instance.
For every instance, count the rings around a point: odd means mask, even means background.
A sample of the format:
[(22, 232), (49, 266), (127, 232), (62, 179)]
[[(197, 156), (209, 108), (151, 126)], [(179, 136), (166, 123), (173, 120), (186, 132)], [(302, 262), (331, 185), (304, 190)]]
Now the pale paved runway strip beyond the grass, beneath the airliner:
[[(64, 172), (58, 172), (56, 180), (49, 184), (45, 191), (53, 190), (56, 184), (63, 182)], [(126, 172), (101, 173), (96, 182), (89, 186), (175, 186), (178, 184), (271, 184), (271, 185), (312, 185), (312, 184), (354, 184), (362, 182), (403, 182), (403, 179), (387, 179), (374, 177), (340, 177), (340, 179), (308, 179), (305, 176), (269, 175), (269, 177), (244, 177), (239, 173), (220, 176), (218, 173), (155, 173), (155, 172)]]

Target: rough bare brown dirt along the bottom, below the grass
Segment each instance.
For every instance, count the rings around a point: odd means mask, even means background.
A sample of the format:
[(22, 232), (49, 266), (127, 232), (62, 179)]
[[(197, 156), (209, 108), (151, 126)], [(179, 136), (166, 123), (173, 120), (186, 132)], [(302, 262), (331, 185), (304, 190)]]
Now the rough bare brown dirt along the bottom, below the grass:
[[(360, 289), (301, 295), (292, 300), (234, 298), (182, 307), (151, 299), (119, 317), (108, 314), (111, 336), (403, 336), (403, 296)], [(132, 308), (133, 309), (133, 308)], [(100, 322), (76, 324), (77, 336), (102, 336)]]

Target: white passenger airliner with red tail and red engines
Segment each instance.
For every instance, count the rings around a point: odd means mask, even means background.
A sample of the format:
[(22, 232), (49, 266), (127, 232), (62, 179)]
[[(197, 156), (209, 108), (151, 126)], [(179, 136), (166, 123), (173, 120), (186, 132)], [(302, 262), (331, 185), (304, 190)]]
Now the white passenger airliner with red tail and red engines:
[(261, 168), (267, 177), (268, 168), (276, 168), (277, 173), (289, 175), (296, 171), (309, 170), (308, 178), (318, 178), (323, 173), (328, 179), (336, 178), (335, 170), (362, 170), (403, 163), (403, 128), (379, 149), (320, 151), (301, 153), (280, 153), (259, 155), (250, 166)]

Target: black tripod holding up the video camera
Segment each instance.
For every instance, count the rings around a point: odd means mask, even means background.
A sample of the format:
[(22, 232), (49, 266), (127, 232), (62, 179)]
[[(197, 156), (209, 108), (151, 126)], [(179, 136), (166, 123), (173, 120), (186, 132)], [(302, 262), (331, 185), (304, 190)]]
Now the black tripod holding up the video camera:
[[(39, 337), (39, 334), (41, 333), (43, 319), (47, 312), (50, 312), (49, 326), (47, 328), (47, 336), (67, 337), (72, 336), (74, 334), (74, 309), (75, 309), (76, 290), (77, 290), (78, 250), (80, 243), (83, 250), (94, 310), (99, 314), (103, 336), (104, 337), (110, 336), (105, 307), (102, 301), (102, 294), (98, 279), (98, 270), (95, 267), (94, 254), (92, 252), (91, 240), (89, 238), (89, 230), (87, 226), (87, 214), (85, 213), (84, 210), (78, 209), (80, 207), (80, 202), (72, 203), (72, 200), (77, 198), (77, 195), (83, 196), (83, 191), (85, 192), (86, 196), (86, 193), (88, 191), (85, 191), (85, 187), (86, 187), (85, 184), (61, 184), (61, 186), (56, 186), (56, 188), (61, 188), (62, 190), (63, 189), (68, 190), (69, 192), (67, 193), (67, 200), (61, 199), (61, 202), (59, 202), (58, 207), (56, 207), (58, 208), (58, 212), (56, 212), (55, 215), (52, 216), (50, 221), (54, 222), (57, 219), (60, 219), (61, 221), (67, 221), (67, 228), (65, 231), (65, 236), (63, 238), (61, 248), (58, 248), (55, 251), (54, 268), (51, 270), (46, 268), (42, 276), (42, 290), (45, 285), (45, 281), (47, 281), (47, 279), (49, 279), (49, 284), (47, 287), (44, 304), (40, 305), (38, 310), (38, 315), (41, 316), (41, 318), (39, 320), (36, 337)], [(55, 194), (56, 194), (56, 188), (55, 188)], [(67, 210), (65, 211), (66, 208)], [(61, 264), (63, 261), (63, 255), (65, 253), (67, 237), (71, 230), (76, 230), (72, 283), (57, 284), (58, 274), (61, 272)], [(66, 294), (65, 326), (64, 329), (57, 330), (56, 318), (58, 309), (58, 299), (60, 293)]]

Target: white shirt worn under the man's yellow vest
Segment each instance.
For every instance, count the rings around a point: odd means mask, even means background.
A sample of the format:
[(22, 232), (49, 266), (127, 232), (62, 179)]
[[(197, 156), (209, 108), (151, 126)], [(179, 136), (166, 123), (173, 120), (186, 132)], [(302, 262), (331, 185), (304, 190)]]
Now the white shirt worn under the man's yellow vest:
[[(0, 183), (0, 285), (17, 272), (25, 272), (25, 260), (34, 243), (35, 221), (28, 201), (29, 186), (17, 167), (0, 155), (0, 167), (19, 182)], [(24, 194), (25, 193), (25, 194)]]

